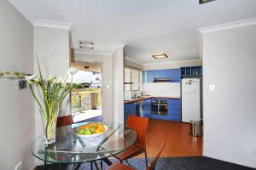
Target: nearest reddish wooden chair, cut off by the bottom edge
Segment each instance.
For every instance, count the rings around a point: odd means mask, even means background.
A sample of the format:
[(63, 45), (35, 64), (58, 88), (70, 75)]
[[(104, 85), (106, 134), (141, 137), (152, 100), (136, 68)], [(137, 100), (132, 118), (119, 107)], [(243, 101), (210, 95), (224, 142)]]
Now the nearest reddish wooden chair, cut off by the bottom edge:
[[(167, 138), (166, 138), (167, 139)], [(166, 142), (167, 140), (165, 140), (164, 144), (162, 144), (158, 154), (154, 157), (154, 159), (148, 163), (146, 169), (147, 170), (154, 170), (155, 169), (155, 165), (162, 153), (162, 151), (164, 150), (165, 146), (166, 146)], [(122, 163), (114, 163), (113, 165), (111, 165), (110, 167), (108, 167), (108, 170), (135, 170), (133, 167), (128, 167)]]

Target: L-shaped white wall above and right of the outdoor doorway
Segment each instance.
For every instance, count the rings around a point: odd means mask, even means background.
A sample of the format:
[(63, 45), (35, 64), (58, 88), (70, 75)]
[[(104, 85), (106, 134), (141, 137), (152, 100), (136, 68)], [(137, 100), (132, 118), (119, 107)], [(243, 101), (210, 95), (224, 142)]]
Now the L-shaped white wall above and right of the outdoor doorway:
[[(113, 63), (112, 55), (73, 54), (75, 61), (102, 62), (102, 119), (113, 122)], [(108, 88), (109, 85), (109, 88)]]

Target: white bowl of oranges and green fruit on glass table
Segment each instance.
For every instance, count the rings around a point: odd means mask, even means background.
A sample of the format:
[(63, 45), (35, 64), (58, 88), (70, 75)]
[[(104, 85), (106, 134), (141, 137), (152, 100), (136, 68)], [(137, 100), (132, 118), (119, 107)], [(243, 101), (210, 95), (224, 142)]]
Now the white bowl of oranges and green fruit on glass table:
[(76, 127), (74, 133), (82, 138), (94, 138), (107, 132), (108, 127), (102, 123), (90, 123)]

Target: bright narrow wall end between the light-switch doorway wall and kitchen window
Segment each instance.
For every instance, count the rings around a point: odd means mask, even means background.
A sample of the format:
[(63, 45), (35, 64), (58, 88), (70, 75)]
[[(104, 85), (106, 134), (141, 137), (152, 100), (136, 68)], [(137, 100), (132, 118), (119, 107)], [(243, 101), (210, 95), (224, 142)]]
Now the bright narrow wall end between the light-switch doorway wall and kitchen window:
[(113, 122), (124, 123), (124, 47), (113, 53)]

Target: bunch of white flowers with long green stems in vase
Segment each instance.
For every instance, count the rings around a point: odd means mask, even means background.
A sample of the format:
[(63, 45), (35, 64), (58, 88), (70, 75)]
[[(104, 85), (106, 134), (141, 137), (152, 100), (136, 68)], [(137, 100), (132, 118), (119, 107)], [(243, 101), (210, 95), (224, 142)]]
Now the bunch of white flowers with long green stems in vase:
[[(72, 82), (62, 84), (62, 82), (57, 82), (58, 80), (55, 77), (49, 79), (48, 81), (44, 81), (39, 62), (38, 71), (39, 77), (26, 77), (24, 73), (19, 71), (0, 71), (0, 77), (5, 75), (13, 75), (14, 77), (26, 79), (32, 92), (32, 96), (36, 100), (36, 103), (38, 104), (42, 113), (45, 142), (54, 142), (56, 120), (59, 115), (61, 103), (67, 97), (67, 94), (69, 94), (70, 91), (75, 87), (75, 85)], [(36, 95), (33, 87), (34, 84), (38, 86), (42, 98), (38, 98)]]

